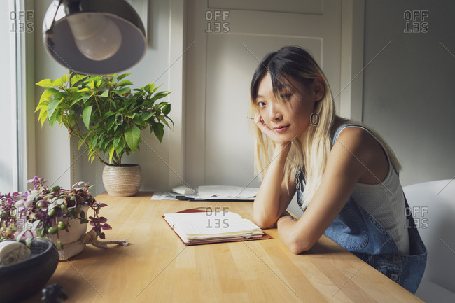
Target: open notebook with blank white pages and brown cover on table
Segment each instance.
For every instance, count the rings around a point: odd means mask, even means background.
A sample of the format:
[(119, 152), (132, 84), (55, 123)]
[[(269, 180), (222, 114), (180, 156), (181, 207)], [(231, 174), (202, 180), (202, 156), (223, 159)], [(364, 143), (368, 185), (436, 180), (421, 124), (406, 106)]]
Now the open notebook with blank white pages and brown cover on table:
[(187, 211), (163, 216), (187, 245), (270, 238), (258, 225), (231, 211)]

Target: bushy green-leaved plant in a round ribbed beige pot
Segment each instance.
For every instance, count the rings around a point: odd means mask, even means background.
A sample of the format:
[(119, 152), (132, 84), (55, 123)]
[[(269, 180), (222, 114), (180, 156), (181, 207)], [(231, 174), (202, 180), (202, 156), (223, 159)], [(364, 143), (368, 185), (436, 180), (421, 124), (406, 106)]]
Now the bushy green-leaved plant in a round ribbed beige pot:
[[(109, 195), (136, 195), (141, 187), (141, 167), (123, 164), (123, 155), (139, 150), (141, 130), (148, 128), (161, 142), (171, 104), (157, 102), (170, 92), (160, 91), (153, 83), (131, 89), (124, 80), (131, 73), (108, 76), (64, 75), (56, 80), (36, 83), (46, 90), (36, 111), (43, 125), (57, 122), (78, 138), (78, 147), (86, 146), (89, 160), (105, 164), (103, 183)], [(172, 122), (174, 124), (174, 122)]]

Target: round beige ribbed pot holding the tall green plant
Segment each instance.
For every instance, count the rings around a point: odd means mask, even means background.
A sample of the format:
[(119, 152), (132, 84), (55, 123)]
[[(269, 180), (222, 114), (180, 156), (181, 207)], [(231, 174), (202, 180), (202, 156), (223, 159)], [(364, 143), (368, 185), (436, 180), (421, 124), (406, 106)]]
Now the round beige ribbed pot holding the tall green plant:
[(105, 165), (103, 184), (106, 192), (115, 197), (130, 197), (139, 192), (142, 170), (137, 164), (122, 164), (120, 167)]

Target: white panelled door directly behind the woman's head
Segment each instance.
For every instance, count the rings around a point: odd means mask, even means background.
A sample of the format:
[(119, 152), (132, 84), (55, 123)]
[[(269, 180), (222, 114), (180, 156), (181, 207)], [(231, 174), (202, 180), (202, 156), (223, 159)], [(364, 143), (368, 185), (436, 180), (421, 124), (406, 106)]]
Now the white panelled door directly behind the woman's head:
[[(188, 1), (186, 181), (258, 186), (249, 85), (268, 52), (307, 48), (332, 92), (341, 89), (342, 1)], [(335, 98), (339, 113), (339, 96)]]

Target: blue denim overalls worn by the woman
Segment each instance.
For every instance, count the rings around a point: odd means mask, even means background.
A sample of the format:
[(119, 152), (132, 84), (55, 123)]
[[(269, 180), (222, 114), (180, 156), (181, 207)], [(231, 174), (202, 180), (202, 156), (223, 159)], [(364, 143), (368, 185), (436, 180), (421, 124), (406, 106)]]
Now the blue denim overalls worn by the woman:
[[(342, 125), (337, 129), (332, 146), (335, 144), (339, 132), (349, 125), (353, 124)], [(365, 129), (365, 127), (363, 128)], [(295, 181), (297, 183), (297, 202), (302, 208), (304, 178), (300, 169), (295, 176)], [(406, 197), (405, 205), (409, 207)], [(324, 234), (409, 292), (415, 293), (425, 271), (427, 252), (414, 224), (412, 212), (407, 211), (406, 213), (409, 213), (407, 215), (408, 226), (403, 228), (407, 228), (409, 233), (410, 255), (399, 255), (395, 241), (384, 230), (384, 227), (377, 223), (370, 213), (360, 207), (352, 197), (348, 199), (342, 211)]]

